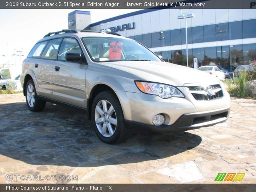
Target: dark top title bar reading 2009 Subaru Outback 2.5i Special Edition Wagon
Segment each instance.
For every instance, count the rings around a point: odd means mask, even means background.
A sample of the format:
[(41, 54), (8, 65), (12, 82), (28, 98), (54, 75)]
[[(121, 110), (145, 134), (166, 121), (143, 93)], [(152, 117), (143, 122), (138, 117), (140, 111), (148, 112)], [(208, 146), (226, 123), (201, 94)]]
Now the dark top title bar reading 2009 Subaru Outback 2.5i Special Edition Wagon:
[(256, 0), (1, 0), (1, 9), (250, 9)]

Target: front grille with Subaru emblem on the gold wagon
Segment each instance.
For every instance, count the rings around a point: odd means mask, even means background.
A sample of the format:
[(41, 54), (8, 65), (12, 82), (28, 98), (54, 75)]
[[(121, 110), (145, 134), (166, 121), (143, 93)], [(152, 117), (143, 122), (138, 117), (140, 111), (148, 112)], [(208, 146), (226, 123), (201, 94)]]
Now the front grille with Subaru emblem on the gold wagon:
[(196, 100), (214, 100), (223, 97), (223, 91), (220, 84), (188, 86), (187, 88)]

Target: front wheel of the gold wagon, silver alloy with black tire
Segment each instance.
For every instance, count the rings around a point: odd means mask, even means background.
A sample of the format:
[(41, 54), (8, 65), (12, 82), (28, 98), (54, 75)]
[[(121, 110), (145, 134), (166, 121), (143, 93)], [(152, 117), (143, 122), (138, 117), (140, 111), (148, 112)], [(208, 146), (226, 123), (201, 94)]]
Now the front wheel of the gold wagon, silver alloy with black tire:
[(122, 142), (131, 134), (131, 130), (125, 126), (118, 98), (110, 91), (101, 92), (94, 98), (91, 117), (98, 138), (105, 143)]

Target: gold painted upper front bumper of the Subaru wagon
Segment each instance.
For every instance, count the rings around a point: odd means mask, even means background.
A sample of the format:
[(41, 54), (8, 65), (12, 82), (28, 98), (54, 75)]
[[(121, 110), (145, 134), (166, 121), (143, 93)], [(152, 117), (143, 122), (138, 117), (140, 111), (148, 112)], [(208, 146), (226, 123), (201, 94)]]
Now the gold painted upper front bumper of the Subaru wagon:
[(154, 126), (152, 118), (157, 114), (164, 115), (166, 119), (164, 124), (170, 126), (185, 114), (205, 114), (230, 108), (230, 97), (226, 91), (219, 99), (195, 100), (186, 88), (179, 87), (179, 89), (185, 98), (162, 99), (159, 96), (132, 92), (116, 92), (116, 94), (121, 101), (125, 120), (152, 126)]

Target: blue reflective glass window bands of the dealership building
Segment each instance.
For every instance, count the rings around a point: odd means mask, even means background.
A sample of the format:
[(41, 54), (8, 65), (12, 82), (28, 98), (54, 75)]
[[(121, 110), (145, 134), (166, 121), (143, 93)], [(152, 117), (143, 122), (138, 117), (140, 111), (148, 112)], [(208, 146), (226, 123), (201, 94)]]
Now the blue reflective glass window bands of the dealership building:
[[(211, 24), (188, 28), (188, 44), (256, 38), (256, 19), (242, 20), (221, 24)], [(185, 28), (166, 30), (131, 36), (148, 48), (176, 46), (186, 44)], [(171, 48), (170, 48), (171, 49)], [(166, 62), (186, 66), (186, 50), (170, 50), (157, 52)], [(198, 58), (198, 66), (210, 63), (218, 65), (243, 65), (256, 61), (256, 44), (240, 44), (230, 46), (212, 46), (188, 49), (189, 66), (193, 66), (193, 58)]]

